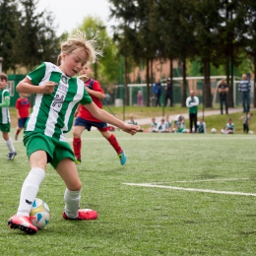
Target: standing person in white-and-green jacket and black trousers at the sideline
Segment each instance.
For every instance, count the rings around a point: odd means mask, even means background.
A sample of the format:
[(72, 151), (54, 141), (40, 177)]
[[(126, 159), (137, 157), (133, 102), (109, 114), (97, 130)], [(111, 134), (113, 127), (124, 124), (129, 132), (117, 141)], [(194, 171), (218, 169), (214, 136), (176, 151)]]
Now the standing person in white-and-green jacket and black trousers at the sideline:
[(195, 133), (197, 133), (197, 112), (198, 112), (199, 98), (198, 96), (195, 96), (195, 92), (193, 90), (191, 90), (189, 94), (190, 96), (188, 96), (186, 99), (186, 106), (188, 107), (188, 113), (189, 113), (190, 133), (193, 132), (193, 124), (195, 127)]

